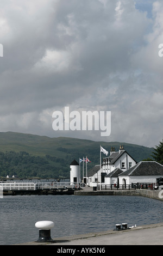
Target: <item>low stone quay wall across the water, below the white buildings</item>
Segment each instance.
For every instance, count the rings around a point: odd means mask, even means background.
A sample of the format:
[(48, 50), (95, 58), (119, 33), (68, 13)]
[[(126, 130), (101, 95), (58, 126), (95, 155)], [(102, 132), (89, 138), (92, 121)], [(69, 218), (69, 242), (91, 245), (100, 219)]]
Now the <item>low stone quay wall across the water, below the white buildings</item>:
[(163, 191), (161, 190), (104, 190), (104, 191), (90, 191), (79, 190), (74, 191), (76, 196), (142, 196), (158, 200), (163, 200)]

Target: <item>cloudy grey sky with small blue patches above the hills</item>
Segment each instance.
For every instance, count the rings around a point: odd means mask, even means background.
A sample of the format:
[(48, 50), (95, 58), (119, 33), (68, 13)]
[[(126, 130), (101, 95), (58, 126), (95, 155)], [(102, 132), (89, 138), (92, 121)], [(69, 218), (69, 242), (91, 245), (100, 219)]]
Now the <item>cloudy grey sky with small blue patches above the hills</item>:
[[(158, 145), (162, 13), (161, 0), (1, 0), (0, 132)], [(80, 122), (111, 112), (110, 135), (54, 130), (65, 107)]]

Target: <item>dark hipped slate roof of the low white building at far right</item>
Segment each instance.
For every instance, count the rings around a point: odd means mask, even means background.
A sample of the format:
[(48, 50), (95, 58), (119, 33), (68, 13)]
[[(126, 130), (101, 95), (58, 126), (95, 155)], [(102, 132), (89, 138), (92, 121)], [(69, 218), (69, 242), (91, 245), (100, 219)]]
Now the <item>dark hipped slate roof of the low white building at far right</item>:
[(163, 175), (162, 164), (155, 161), (141, 161), (118, 176)]

